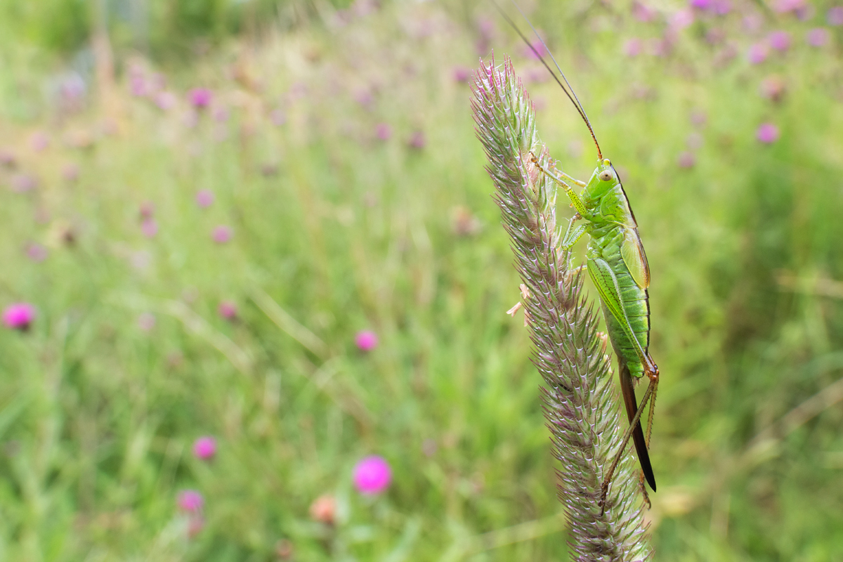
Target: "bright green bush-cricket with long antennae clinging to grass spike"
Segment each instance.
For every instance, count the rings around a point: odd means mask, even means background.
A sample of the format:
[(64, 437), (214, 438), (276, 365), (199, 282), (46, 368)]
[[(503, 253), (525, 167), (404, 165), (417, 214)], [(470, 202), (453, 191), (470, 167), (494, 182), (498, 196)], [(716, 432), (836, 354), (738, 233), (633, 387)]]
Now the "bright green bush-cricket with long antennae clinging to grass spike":
[[(630, 437), (632, 442), (635, 443), (643, 478), (647, 480), (650, 488), (656, 491), (656, 478), (652, 474), (650, 455), (647, 452), (650, 445), (652, 416), (658, 389), (658, 367), (655, 361), (652, 361), (649, 353), (650, 302), (647, 287), (650, 285), (650, 267), (647, 264), (647, 254), (644, 253), (641, 237), (638, 235), (635, 215), (632, 213), (618, 173), (609, 158), (603, 157), (603, 152), (597, 142), (597, 136), (594, 135), (594, 130), (585, 113), (583, 104), (577, 99), (577, 94), (574, 93), (571, 84), (568, 83), (565, 72), (562, 72), (556, 59), (545, 45), (545, 41), (542, 40), (541, 35), (529, 22), (518, 4), (515, 4), (515, 7), (527, 20), (536, 37), (541, 41), (541, 45), (545, 47), (545, 51), (550, 55), (550, 60), (553, 61), (562, 80), (556, 76), (556, 72), (550, 68), (544, 57), (527, 40), (502, 8), (497, 3), (495, 3), (495, 7), (507, 20), (507, 23), (518, 32), (518, 35), (521, 36), (521, 39), (524, 40), (524, 43), (529, 46), (541, 63), (545, 65), (550, 75), (553, 76), (568, 99), (571, 100), (571, 103), (577, 109), (577, 113), (588, 126), (594, 146), (597, 147), (597, 168), (594, 169), (588, 182), (574, 179), (561, 172), (554, 174), (550, 169), (543, 167), (534, 155), (532, 156), (532, 162), (542, 173), (561, 185), (577, 211), (568, 224), (564, 238), (562, 238), (562, 249), (571, 249), (583, 235), (589, 235), (588, 248), (586, 249), (588, 275), (597, 288), (606, 328), (609, 332), (609, 340), (611, 340), (615, 355), (618, 358), (620, 390), (623, 394), (630, 426), (623, 437), (620, 451), (609, 466), (609, 470), (604, 474), (600, 506), (605, 509), (609, 484), (615, 474), (615, 468), (617, 468), (618, 462), (626, 450), (626, 444)], [(582, 187), (583, 190), (577, 194), (572, 185)], [(574, 222), (580, 219), (585, 222), (574, 227)], [(649, 379), (649, 384), (639, 406), (636, 402), (635, 383), (645, 376)], [(649, 412), (647, 413), (647, 434), (645, 436), (644, 431), (642, 431), (641, 416), (647, 407), (647, 403), (649, 403)], [(644, 490), (643, 487), (642, 490)], [(648, 499), (647, 502), (649, 502)]]

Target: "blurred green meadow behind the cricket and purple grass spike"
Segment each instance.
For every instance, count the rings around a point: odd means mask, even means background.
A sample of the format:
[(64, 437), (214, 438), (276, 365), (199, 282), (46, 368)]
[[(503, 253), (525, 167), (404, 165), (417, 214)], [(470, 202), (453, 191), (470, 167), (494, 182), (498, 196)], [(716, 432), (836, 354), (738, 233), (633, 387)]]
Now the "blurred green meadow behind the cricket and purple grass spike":
[[(0, 9), (0, 559), (567, 559), (479, 58), (595, 153), (490, 3)], [(843, 7), (524, 9), (647, 248), (655, 559), (843, 560)]]

